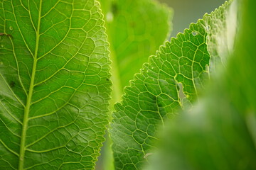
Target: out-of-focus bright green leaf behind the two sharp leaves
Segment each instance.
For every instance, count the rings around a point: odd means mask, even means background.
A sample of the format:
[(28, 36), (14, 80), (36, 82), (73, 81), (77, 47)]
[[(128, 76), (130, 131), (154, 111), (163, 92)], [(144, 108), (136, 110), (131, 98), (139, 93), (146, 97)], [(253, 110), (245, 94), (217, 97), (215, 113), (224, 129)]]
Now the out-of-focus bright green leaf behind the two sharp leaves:
[(100, 2), (111, 47), (114, 104), (121, 101), (124, 86), (149, 55), (154, 55), (168, 38), (172, 11), (151, 0)]

